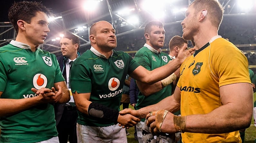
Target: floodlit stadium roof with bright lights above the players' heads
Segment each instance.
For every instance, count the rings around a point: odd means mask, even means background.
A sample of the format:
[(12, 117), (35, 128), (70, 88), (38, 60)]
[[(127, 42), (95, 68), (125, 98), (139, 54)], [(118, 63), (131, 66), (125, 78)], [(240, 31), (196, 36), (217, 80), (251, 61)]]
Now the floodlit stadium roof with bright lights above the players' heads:
[[(31, 0), (34, 1), (34, 0)], [(58, 39), (61, 34), (72, 33), (80, 37), (81, 48), (90, 45), (88, 33), (90, 26), (99, 20), (112, 23), (117, 36), (143, 30), (145, 24), (151, 20), (160, 20), (165, 25), (179, 22), (185, 17), (185, 10), (193, 0), (40, 0), (44, 5), (52, 8), (56, 19), (52, 20), (42, 49), (52, 53), (60, 52)], [(88, 2), (95, 2), (89, 5)], [(8, 1), (8, 4), (12, 1)], [(251, 8), (240, 8), (238, 0), (219, 0), (223, 5), (225, 15), (253, 15), (256, 16), (256, 2), (252, 0)], [(7, 1), (6, 1), (7, 3)], [(8, 5), (7, 4), (7, 5)], [(249, 4), (249, 1), (243, 1)], [(11, 6), (9, 4), (9, 6)], [(89, 6), (89, 7), (88, 7)], [(91, 10), (93, 6), (95, 10)], [(8, 10), (6, 10), (8, 11)], [(7, 14), (7, 12), (4, 12)], [(7, 21), (0, 22), (0, 46), (15, 39), (15, 30)], [(54, 41), (55, 40), (55, 41)]]

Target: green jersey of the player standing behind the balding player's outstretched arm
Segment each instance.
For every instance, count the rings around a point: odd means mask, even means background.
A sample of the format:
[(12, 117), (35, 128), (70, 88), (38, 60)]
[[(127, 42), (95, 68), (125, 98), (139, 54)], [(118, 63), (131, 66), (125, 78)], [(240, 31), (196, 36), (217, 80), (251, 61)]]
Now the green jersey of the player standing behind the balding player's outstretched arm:
[[(147, 48), (147, 47), (149, 48)], [(146, 68), (147, 70), (153, 70), (156, 68), (159, 68), (161, 66), (166, 65), (171, 58), (166, 54), (165, 52), (158, 53), (155, 49), (150, 47), (149, 45), (145, 44), (142, 48), (140, 48), (134, 57), (134, 60), (137, 61), (138, 64)], [(166, 72), (166, 71), (163, 71)], [(162, 99), (172, 95), (172, 86), (171, 84), (167, 85), (164, 89), (151, 94), (150, 96), (144, 96), (140, 91), (138, 94), (137, 104), (136, 104), (136, 110), (156, 104)], [(142, 119), (142, 121), (145, 121), (145, 118)]]

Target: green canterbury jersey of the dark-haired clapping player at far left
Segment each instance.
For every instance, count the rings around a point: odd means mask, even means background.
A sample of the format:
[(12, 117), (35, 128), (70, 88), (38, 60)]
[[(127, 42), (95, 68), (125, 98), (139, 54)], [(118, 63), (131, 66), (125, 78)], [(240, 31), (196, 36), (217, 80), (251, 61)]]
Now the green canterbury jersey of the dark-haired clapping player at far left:
[[(32, 52), (24, 45), (11, 41), (0, 48), (1, 99), (33, 98), (37, 95), (31, 88), (51, 89), (54, 83), (64, 81), (54, 54), (39, 48)], [(41, 104), (1, 117), (0, 125), (1, 143), (34, 143), (58, 135), (53, 104)]]

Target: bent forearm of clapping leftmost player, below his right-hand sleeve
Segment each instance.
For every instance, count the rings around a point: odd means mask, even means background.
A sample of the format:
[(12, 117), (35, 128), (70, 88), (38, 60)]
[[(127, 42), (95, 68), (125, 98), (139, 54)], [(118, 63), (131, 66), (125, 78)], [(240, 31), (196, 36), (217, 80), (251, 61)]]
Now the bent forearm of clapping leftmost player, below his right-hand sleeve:
[(65, 81), (54, 83), (54, 88), (58, 90), (57, 85), (60, 85), (62, 88), (62, 97), (57, 103), (67, 103), (70, 100), (70, 92), (69, 89), (67, 88), (67, 84)]

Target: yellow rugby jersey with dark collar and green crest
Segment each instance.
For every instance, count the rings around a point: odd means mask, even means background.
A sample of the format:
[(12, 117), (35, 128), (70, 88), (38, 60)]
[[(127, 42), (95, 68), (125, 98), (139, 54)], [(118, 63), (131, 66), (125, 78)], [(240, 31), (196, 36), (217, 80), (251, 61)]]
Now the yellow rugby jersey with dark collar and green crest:
[[(181, 91), (181, 115), (207, 114), (222, 106), (219, 87), (251, 83), (248, 61), (232, 43), (214, 36), (181, 65), (177, 86)], [(182, 134), (183, 143), (241, 142), (239, 131), (224, 134)]]

